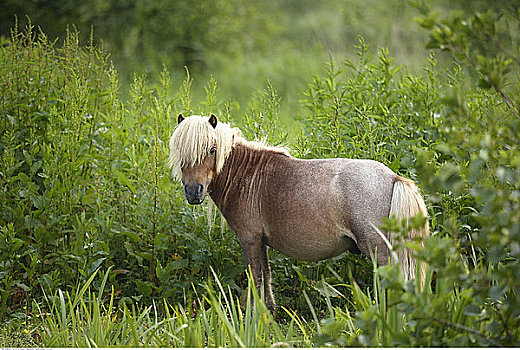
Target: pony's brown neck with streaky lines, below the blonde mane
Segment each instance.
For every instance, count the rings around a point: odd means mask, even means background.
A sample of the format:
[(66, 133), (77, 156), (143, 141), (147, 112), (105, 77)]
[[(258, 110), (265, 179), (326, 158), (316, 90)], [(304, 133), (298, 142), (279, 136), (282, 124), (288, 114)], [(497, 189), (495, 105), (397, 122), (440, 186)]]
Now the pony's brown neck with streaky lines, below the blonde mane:
[(243, 200), (258, 201), (267, 175), (265, 172), (271, 168), (272, 158), (280, 156), (286, 157), (272, 150), (256, 149), (241, 143), (235, 145), (209, 186), (211, 199), (226, 219), (229, 211), (241, 205)]

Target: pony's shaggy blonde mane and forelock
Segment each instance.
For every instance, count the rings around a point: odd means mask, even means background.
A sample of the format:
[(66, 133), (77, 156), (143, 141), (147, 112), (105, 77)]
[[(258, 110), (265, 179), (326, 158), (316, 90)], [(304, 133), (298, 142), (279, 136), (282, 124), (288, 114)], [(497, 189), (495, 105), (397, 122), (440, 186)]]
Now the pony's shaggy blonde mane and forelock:
[(202, 163), (209, 155), (212, 147), (216, 147), (216, 170), (220, 173), (224, 162), (237, 144), (256, 150), (271, 150), (289, 156), (281, 147), (270, 147), (264, 142), (247, 141), (238, 128), (218, 122), (214, 128), (208, 117), (192, 115), (185, 118), (175, 128), (170, 138), (170, 157), (168, 165), (173, 176), (180, 180), (182, 169)]

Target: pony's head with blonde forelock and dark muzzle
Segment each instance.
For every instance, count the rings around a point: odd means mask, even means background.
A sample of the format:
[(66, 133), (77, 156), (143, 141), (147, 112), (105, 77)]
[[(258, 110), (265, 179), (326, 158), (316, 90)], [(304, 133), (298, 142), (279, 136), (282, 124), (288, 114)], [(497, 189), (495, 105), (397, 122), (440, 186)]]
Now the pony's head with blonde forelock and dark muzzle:
[(233, 149), (240, 130), (217, 117), (193, 115), (177, 119), (178, 125), (170, 139), (169, 166), (177, 180), (184, 185), (184, 195), (190, 204), (204, 201), (208, 186), (222, 170), (224, 161)]

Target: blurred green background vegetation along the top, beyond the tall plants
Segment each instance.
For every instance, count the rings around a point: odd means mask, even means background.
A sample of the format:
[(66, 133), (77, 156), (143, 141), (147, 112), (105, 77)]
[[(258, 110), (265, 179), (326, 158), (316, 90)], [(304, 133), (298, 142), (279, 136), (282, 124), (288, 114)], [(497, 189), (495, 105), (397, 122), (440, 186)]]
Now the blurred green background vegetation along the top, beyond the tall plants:
[(251, 97), (270, 81), (283, 99), (281, 120), (289, 129), (298, 126), (294, 117), (305, 112), (299, 103), (302, 92), (329, 54), (350, 55), (358, 36), (374, 52), (388, 47), (410, 67), (428, 56), (423, 49), (427, 35), (413, 22), (416, 11), (407, 0), (86, 0), (74, 5), (17, 0), (3, 6), (0, 36), (6, 38), (14, 14), (21, 28), (29, 15), (60, 44), (67, 26), (77, 28), (82, 42), (93, 32), (110, 53), (125, 96), (134, 75), (159, 81), (164, 64), (178, 81), (187, 66), (194, 100), (205, 98), (205, 84), (214, 77), (219, 100), (238, 102), (246, 113)]

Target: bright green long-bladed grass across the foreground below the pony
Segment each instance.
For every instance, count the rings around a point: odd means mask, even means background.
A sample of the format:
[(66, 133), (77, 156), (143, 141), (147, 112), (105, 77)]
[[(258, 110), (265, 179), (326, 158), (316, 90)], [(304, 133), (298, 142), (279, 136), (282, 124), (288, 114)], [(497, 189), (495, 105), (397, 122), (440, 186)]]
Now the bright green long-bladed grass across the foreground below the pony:
[[(32, 338), (21, 343), (44, 347), (312, 347), (312, 346), (407, 346), (417, 337), (411, 332), (416, 324), (431, 327), (438, 339), (442, 332), (464, 330), (485, 338), (484, 326), (475, 315), (466, 312), (467, 293), (453, 289), (450, 279), (438, 279), (436, 293), (404, 283), (398, 267), (373, 265), (374, 285), (362, 290), (351, 277), (350, 283), (318, 283), (327, 305), (322, 318), (307, 292), (312, 317), (305, 319), (296, 311), (282, 306), (276, 318), (259, 298), (252, 280), (248, 280), (247, 298), (240, 298), (225, 288), (213, 272), (205, 284), (205, 293), (182, 305), (167, 300), (148, 306), (120, 302), (116, 305), (114, 289), (106, 291), (110, 269), (95, 271), (73, 291), (59, 289), (46, 295), (45, 302), (34, 302)], [(431, 276), (431, 274), (430, 274)], [(97, 292), (93, 283), (100, 283)], [(400, 281), (400, 282), (397, 282)], [(429, 285), (431, 279), (426, 281)], [(346, 288), (348, 294), (342, 293)], [(411, 296), (414, 298), (411, 298)], [(333, 306), (339, 298), (342, 306)], [(421, 308), (436, 308), (437, 319), (426, 318)], [(449, 311), (450, 318), (443, 319)], [(422, 316), (421, 316), (422, 315)], [(375, 321), (375, 323), (374, 323)], [(435, 327), (436, 325), (436, 327)], [(441, 332), (441, 333), (439, 333)], [(429, 332), (426, 332), (428, 334)], [(433, 337), (432, 337), (433, 338)], [(24, 340), (25, 339), (25, 340)], [(34, 339), (38, 339), (36, 342)], [(443, 346), (423, 339), (421, 344)], [(23, 343), (23, 342), (26, 343)], [(493, 339), (489, 345), (500, 345)]]

